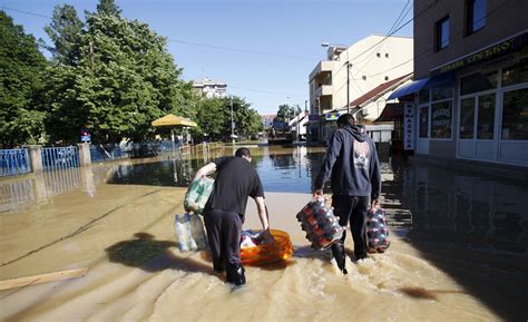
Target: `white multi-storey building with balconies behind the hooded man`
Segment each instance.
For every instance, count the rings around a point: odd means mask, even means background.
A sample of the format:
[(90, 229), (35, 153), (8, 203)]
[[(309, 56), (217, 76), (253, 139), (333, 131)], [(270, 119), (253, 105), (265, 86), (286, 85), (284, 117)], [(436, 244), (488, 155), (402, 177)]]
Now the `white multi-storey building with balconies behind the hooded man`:
[(384, 38), (374, 35), (349, 47), (329, 46), (327, 59), (310, 74), (310, 114), (346, 109), (348, 103), (380, 84), (412, 72), (412, 38)]

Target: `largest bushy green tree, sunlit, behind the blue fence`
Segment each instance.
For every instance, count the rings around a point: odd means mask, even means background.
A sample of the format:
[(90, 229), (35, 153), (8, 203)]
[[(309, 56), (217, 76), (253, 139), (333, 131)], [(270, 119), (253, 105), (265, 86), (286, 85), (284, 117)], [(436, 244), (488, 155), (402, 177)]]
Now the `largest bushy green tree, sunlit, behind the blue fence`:
[(49, 69), (45, 97), (53, 140), (78, 140), (84, 125), (94, 142), (144, 140), (158, 117), (194, 116), (193, 88), (179, 79), (166, 39), (119, 12), (114, 1), (101, 0), (76, 39), (78, 65)]

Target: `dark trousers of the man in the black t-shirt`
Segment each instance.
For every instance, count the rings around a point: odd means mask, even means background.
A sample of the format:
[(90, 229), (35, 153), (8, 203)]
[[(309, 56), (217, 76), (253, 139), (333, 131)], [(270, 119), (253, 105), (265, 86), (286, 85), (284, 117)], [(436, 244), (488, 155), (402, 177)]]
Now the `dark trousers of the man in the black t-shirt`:
[(216, 271), (241, 266), (241, 215), (233, 212), (211, 209), (204, 214), (213, 265)]

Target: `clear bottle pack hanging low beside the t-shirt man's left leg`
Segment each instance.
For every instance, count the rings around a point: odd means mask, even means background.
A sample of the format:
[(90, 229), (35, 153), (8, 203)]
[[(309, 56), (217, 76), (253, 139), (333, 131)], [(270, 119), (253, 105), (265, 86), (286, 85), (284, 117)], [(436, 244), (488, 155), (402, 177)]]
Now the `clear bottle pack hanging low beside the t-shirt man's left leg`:
[(207, 236), (202, 218), (196, 214), (174, 216), (176, 242), (180, 252), (202, 251), (207, 248)]

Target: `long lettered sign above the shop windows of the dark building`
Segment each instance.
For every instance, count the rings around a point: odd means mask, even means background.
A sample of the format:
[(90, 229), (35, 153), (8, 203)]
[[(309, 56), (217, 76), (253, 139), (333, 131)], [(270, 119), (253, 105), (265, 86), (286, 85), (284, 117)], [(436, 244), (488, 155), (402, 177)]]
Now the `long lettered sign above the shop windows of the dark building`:
[(475, 64), (485, 62), (490, 59), (493, 59), (498, 56), (506, 55), (514, 50), (521, 49), (528, 43), (528, 32), (519, 35), (517, 37), (510, 38), (508, 40), (501, 41), (497, 45), (482, 49), (478, 52), (471, 53), (467, 57), (463, 57), (459, 60), (452, 61), (448, 65), (444, 65), (440, 68), (431, 70), (431, 76), (444, 74), (448, 71), (458, 70)]

